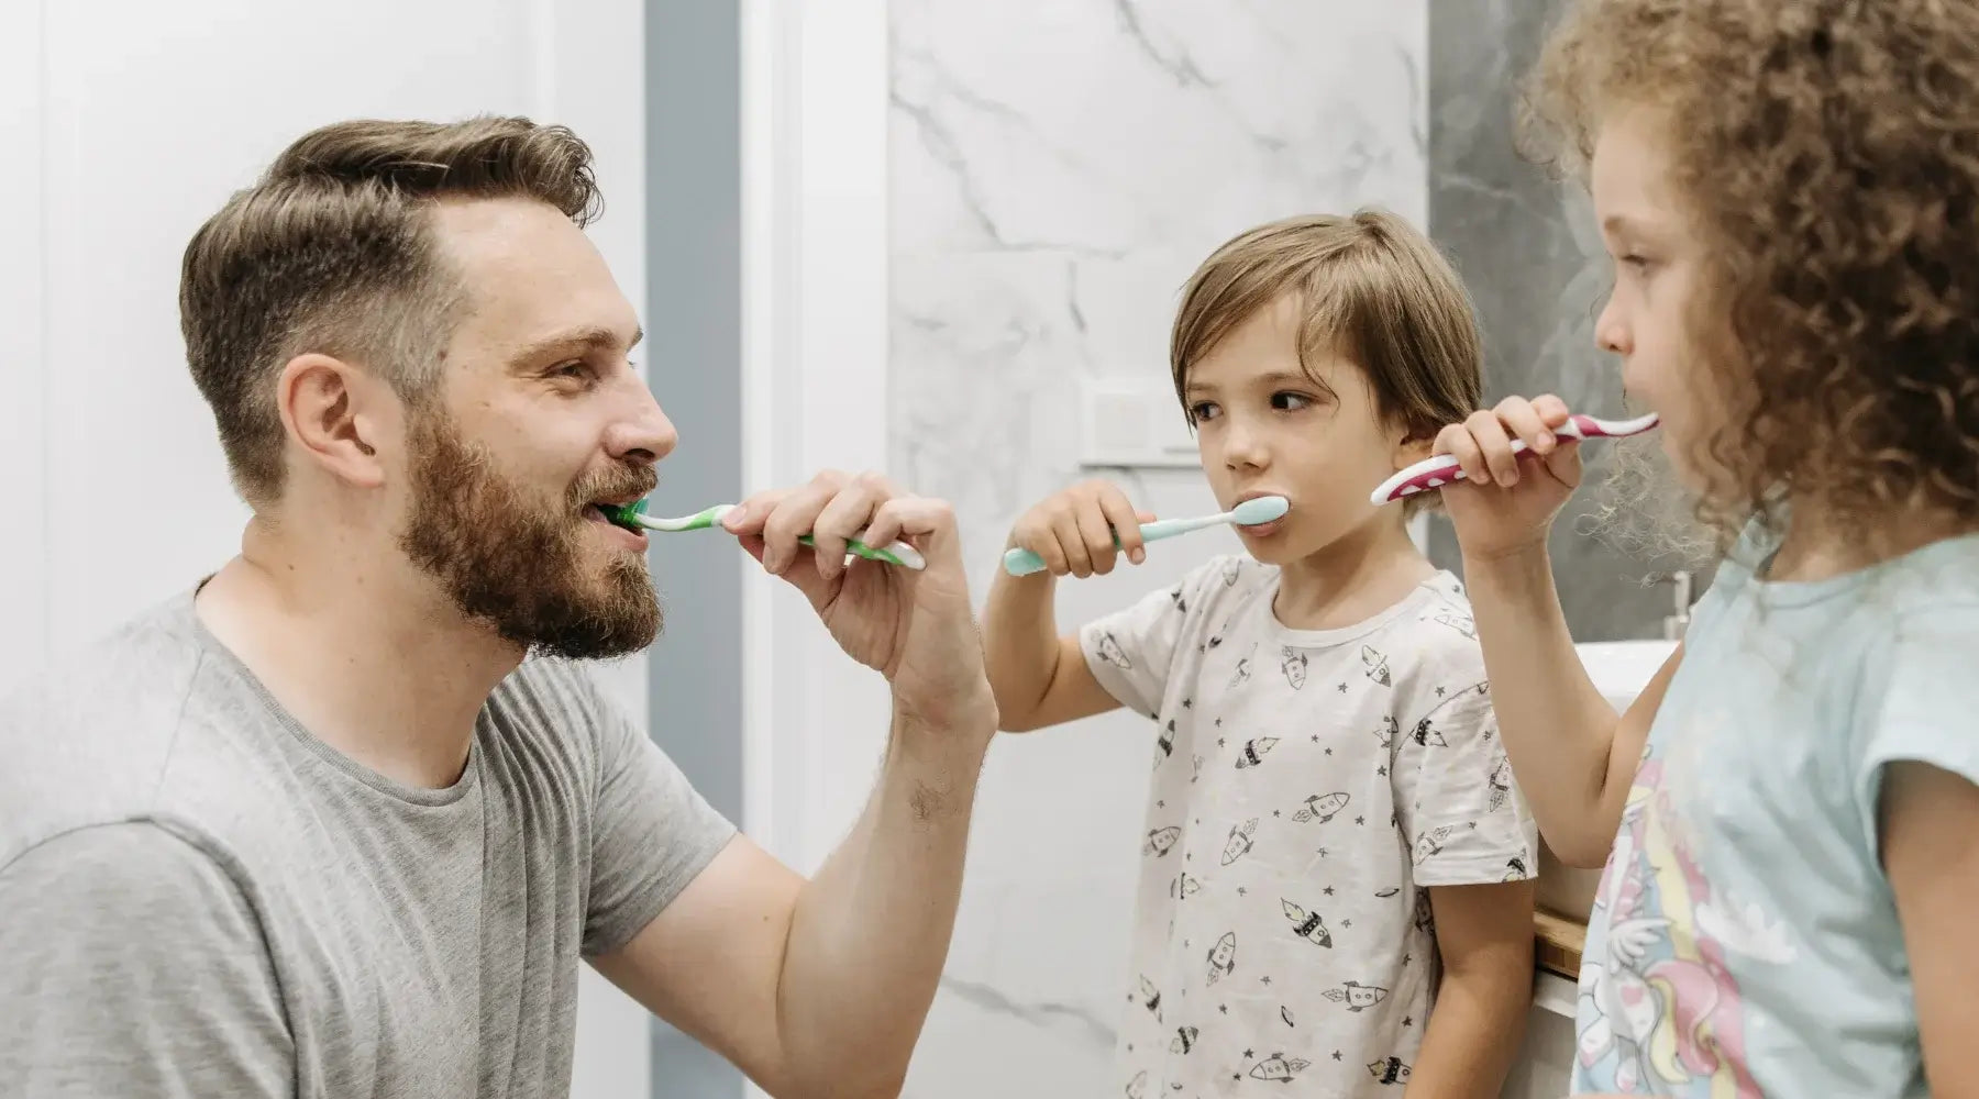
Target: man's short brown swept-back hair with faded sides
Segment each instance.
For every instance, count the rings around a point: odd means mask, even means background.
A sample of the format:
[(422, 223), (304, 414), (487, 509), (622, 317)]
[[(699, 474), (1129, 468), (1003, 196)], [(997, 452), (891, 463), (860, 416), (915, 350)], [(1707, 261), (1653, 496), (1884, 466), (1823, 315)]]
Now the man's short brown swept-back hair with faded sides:
[(186, 362), (214, 409), (234, 484), (279, 498), (283, 364), (319, 352), (418, 399), (433, 387), (461, 298), (427, 211), (449, 198), (530, 198), (578, 225), (598, 213), (590, 148), (526, 119), (350, 121), (299, 138), (186, 245)]

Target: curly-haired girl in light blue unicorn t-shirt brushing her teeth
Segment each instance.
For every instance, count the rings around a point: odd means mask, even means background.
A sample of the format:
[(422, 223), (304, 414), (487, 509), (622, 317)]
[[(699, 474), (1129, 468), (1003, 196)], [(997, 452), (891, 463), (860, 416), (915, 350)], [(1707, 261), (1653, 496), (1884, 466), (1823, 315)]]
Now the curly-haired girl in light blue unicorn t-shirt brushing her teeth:
[(1520, 785), (1607, 856), (1575, 1091), (1979, 1095), (1979, 4), (1577, 0), (1526, 123), (1724, 557), (1617, 719), (1546, 557), (1567, 409), (1439, 439)]

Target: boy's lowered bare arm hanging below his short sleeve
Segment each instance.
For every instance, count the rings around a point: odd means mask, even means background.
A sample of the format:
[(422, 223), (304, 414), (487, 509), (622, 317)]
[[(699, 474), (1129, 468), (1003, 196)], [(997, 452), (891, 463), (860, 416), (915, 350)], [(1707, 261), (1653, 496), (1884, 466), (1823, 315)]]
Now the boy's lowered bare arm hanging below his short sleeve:
[(1526, 882), (1433, 886), (1443, 984), (1405, 1099), (1494, 1099), (1532, 1006), (1532, 895)]

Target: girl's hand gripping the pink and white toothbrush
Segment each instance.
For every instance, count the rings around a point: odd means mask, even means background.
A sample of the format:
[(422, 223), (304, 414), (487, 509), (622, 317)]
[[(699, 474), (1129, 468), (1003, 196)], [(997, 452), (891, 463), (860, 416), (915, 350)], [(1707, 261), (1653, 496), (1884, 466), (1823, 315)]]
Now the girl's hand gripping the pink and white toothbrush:
[[(1579, 441), (1554, 435), (1565, 421), (1567, 405), (1552, 393), (1506, 397), (1437, 435), (1437, 453), (1455, 455), (1464, 468), (1464, 480), (1443, 486), (1443, 506), (1466, 557), (1546, 546), (1554, 516), (1581, 484)], [(1530, 449), (1514, 455), (1512, 439)]]

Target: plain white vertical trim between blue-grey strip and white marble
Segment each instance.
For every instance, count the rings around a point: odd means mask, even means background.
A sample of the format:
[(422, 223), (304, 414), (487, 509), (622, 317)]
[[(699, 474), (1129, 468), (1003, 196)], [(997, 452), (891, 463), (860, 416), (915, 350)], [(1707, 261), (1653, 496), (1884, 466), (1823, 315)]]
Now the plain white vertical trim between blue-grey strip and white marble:
[[(887, 42), (885, 0), (742, 0), (748, 490), (887, 465)], [(760, 571), (742, 613), (742, 824), (811, 872), (871, 789), (885, 684)]]

